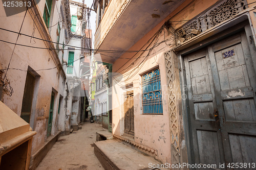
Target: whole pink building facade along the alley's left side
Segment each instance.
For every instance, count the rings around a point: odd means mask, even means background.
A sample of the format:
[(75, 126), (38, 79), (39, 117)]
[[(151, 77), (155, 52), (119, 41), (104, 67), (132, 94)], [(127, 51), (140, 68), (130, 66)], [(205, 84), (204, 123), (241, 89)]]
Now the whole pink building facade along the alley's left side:
[(29, 3), (31, 8), (15, 11), (1, 2), (1, 101), (37, 132), (30, 163), (34, 169), (70, 126), (64, 48), (71, 17), (68, 1)]

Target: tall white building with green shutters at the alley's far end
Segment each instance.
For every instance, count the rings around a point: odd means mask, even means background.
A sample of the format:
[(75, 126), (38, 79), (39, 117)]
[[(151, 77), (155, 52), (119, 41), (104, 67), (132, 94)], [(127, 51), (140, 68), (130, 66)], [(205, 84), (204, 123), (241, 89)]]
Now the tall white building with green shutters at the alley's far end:
[[(66, 75), (69, 86), (68, 117), (66, 119), (66, 133), (70, 128), (78, 130), (80, 122), (85, 120), (88, 103), (90, 77), (91, 30), (86, 29), (86, 5), (70, 1), (71, 32), (66, 49)], [(87, 50), (84, 50), (86, 48)], [(88, 106), (88, 104), (87, 104)], [(88, 114), (87, 114), (88, 115)], [(88, 117), (88, 116), (87, 116)]]

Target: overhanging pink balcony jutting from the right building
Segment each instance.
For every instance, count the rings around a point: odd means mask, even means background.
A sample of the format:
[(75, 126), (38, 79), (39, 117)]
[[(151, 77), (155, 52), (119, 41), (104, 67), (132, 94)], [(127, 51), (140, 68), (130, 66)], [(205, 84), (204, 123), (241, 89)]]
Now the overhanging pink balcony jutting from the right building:
[[(183, 2), (184, 0), (96, 1), (94, 4), (94, 9), (97, 9), (96, 52), (100, 53), (98, 50), (129, 50)], [(121, 55), (122, 53), (104, 52), (101, 60), (114, 63)]]

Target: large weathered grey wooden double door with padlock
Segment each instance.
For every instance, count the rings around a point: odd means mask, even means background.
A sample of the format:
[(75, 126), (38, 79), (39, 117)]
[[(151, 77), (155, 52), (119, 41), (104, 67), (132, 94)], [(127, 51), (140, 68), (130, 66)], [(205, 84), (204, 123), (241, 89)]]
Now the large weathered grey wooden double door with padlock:
[(242, 32), (184, 57), (195, 163), (217, 169), (220, 163), (227, 169), (246, 163), (241, 169), (253, 169), (255, 55)]

